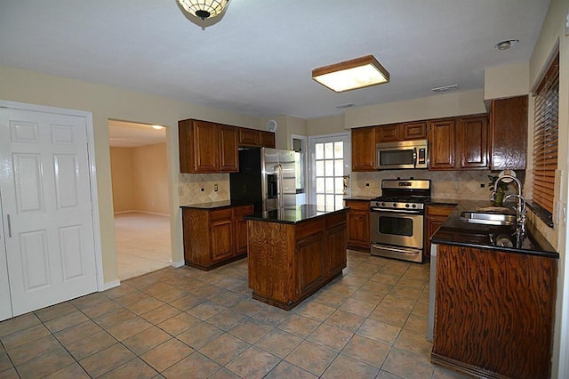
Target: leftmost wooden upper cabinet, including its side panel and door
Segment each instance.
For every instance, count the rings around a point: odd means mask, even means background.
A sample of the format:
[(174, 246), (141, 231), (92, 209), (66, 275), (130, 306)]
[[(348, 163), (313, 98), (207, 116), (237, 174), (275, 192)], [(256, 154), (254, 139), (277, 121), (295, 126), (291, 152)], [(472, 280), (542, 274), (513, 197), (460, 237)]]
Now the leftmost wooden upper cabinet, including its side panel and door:
[(220, 171), (219, 126), (198, 120), (178, 123), (181, 173)]

